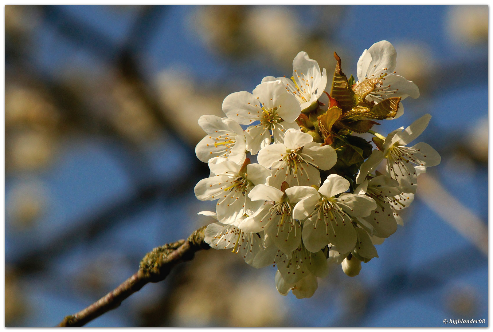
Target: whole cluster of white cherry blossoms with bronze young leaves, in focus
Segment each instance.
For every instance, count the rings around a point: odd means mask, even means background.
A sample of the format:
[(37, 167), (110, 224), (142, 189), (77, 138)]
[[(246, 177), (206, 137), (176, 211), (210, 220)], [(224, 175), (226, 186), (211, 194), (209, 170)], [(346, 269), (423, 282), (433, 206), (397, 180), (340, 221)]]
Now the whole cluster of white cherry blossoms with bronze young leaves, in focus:
[[(375, 244), (403, 225), (399, 211), (413, 201), (418, 175), (440, 163), (426, 143), (407, 147), (429, 114), (387, 137), (371, 130), (375, 120), (400, 116), (403, 99), (419, 97), (416, 84), (394, 72), (392, 44), (363, 52), (357, 81), (334, 56), (332, 81), (300, 52), (291, 78), (264, 77), (252, 93), (224, 99), (226, 117), (199, 119), (207, 135), (195, 151), (211, 175), (194, 190), (216, 201), (215, 212), (199, 213), (217, 220), (206, 242), (254, 267), (277, 266), (278, 291), (298, 298), (314, 294), (329, 263), (355, 276), (378, 257)], [(374, 145), (358, 136), (366, 132)]]

